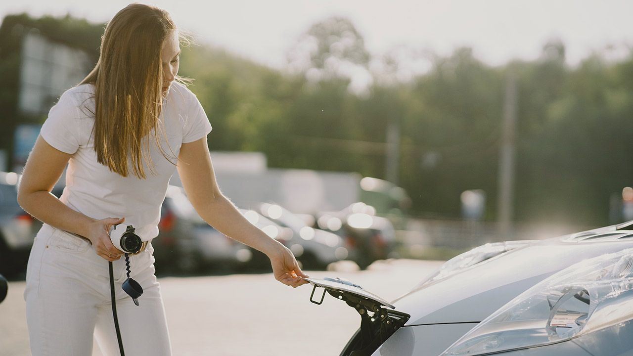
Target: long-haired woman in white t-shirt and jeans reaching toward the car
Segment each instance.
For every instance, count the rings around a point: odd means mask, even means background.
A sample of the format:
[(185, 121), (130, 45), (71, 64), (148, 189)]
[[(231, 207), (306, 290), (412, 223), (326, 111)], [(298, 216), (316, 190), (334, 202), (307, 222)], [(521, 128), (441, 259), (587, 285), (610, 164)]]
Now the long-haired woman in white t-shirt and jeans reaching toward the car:
[[(123, 252), (108, 232), (125, 222), (143, 241), (158, 235), (176, 169), (204, 221), (265, 253), (277, 281), (306, 283), (291, 251), (220, 193), (206, 141), (211, 125), (178, 81), (179, 55), (179, 34), (166, 11), (127, 6), (108, 23), (94, 70), (61, 96), (42, 125), (18, 191), (20, 205), (44, 222), (24, 293), (34, 355), (91, 355), (93, 333), (104, 355), (118, 354), (106, 261), (113, 261), (125, 351), (171, 354), (151, 243), (130, 256), (131, 276), (144, 288), (136, 306), (120, 288)], [(50, 191), (67, 163), (58, 200)]]

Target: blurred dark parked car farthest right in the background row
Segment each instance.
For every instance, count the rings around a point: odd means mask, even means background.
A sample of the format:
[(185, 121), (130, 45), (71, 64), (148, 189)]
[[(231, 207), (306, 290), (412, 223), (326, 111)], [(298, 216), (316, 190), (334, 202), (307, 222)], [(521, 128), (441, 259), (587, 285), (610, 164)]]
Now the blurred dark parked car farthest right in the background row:
[(395, 252), (396, 231), (391, 222), (375, 215), (365, 203), (354, 203), (339, 212), (319, 213), (315, 226), (344, 239), (351, 259), (361, 269), (376, 260), (398, 257)]

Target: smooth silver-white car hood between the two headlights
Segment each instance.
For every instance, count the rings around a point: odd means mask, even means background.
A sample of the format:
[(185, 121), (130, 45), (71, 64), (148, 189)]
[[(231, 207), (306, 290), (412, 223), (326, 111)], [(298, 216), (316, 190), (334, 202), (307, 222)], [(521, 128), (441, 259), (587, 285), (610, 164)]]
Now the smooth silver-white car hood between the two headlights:
[(577, 241), (567, 236), (543, 240), (423, 284), (392, 304), (411, 315), (406, 326), (480, 322), (551, 274), (586, 258), (630, 247), (633, 238)]

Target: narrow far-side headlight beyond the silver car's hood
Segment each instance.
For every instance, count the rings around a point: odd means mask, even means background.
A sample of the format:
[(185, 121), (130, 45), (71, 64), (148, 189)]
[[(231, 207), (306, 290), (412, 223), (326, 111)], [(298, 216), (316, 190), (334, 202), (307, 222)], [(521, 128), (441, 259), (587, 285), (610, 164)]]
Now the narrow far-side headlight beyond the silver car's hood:
[(461, 253), (461, 255), (457, 255), (450, 260), (444, 262), (444, 264), (439, 267), (439, 269), (437, 269), (422, 282), (418, 283), (416, 288), (422, 286), (423, 284), (432, 283), (435, 281), (439, 281), (440, 279), (444, 279), (448, 276), (452, 276), (453, 274), (468, 269), (473, 265), (480, 264), (481, 262), (490, 260), (491, 258), (497, 257), (502, 253), (506, 253), (510, 250), (514, 250), (515, 248), (529, 245), (530, 243), (534, 243), (535, 241), (536, 240), (506, 241), (499, 243), (487, 243), (486, 245), (475, 247), (470, 251)]

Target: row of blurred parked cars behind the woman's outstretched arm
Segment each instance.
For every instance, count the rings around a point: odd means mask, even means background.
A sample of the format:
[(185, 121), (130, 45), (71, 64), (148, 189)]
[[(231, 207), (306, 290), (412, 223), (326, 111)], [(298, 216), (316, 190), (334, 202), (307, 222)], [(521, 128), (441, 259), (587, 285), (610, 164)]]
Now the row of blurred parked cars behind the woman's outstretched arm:
[[(358, 208), (365, 212), (356, 212)], [(393, 257), (393, 227), (389, 220), (370, 215), (370, 209), (354, 205), (335, 213), (343, 219), (351, 215), (338, 229), (331, 224), (325, 229), (308, 226), (298, 215), (275, 203), (256, 203), (239, 210), (249, 222), (287, 246), (303, 269), (326, 269), (340, 260), (353, 260), (364, 268), (377, 259)], [(365, 221), (358, 221), (363, 218)], [(206, 224), (182, 188), (169, 186), (159, 231), (152, 242), (159, 272), (199, 272), (210, 267), (270, 270), (270, 261), (263, 253)]]

